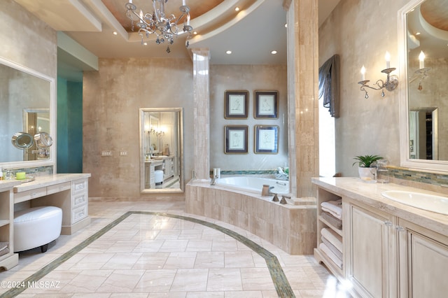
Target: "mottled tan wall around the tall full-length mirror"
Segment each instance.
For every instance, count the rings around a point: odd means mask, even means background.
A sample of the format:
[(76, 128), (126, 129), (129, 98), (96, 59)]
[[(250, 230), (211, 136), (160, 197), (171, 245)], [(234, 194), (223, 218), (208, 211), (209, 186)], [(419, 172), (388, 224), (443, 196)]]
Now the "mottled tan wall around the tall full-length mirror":
[[(190, 59), (99, 59), (99, 71), (84, 73), (83, 171), (92, 173), (90, 197), (141, 197), (139, 108), (183, 108), (183, 174), (191, 178), (192, 81)], [(102, 157), (102, 150), (112, 157)]]

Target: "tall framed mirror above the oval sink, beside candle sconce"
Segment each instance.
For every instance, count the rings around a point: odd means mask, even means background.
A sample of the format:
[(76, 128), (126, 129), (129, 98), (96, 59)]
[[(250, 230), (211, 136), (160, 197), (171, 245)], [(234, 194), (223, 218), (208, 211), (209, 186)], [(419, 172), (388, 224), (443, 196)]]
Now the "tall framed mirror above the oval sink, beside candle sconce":
[(399, 12), (401, 165), (448, 171), (448, 1)]

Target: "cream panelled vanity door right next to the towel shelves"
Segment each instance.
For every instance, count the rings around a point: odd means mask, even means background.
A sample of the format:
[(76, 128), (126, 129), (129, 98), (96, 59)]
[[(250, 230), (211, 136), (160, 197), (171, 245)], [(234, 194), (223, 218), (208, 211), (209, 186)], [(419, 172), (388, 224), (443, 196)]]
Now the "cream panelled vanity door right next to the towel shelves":
[(363, 297), (395, 297), (395, 217), (349, 197), (343, 201), (346, 278)]

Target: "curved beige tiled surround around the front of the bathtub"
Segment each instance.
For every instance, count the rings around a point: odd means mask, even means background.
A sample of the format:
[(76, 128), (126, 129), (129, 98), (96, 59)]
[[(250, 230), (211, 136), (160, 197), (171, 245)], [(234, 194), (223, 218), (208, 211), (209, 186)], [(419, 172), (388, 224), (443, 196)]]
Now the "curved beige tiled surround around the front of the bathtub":
[(311, 254), (316, 246), (316, 200), (287, 201), (288, 204), (279, 204), (271, 196), (230, 190), (203, 181), (192, 180), (186, 185), (187, 213), (246, 229), (291, 255)]

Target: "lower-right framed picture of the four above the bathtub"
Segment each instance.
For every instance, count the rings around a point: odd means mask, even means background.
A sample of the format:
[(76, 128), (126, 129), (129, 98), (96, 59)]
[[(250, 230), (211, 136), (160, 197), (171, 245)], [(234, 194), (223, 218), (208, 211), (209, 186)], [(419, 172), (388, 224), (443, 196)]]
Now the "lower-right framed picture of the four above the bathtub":
[(279, 127), (255, 125), (255, 153), (277, 154), (279, 152)]

